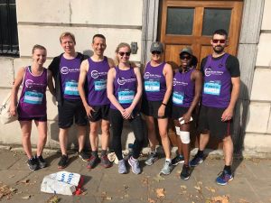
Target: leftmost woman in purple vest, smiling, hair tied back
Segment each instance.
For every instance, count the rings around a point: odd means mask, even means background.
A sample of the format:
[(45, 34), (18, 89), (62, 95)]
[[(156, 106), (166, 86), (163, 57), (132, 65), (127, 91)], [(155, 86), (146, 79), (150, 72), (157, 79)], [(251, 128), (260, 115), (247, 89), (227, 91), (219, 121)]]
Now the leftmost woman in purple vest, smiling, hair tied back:
[[(42, 150), (47, 139), (47, 86), (54, 94), (52, 84), (48, 83), (51, 71), (42, 67), (46, 60), (46, 54), (46, 49), (43, 46), (33, 46), (33, 63), (31, 66), (18, 70), (11, 97), (10, 112), (12, 115), (15, 115), (16, 111), (18, 112), (23, 136), (23, 150), (28, 157), (29, 169), (32, 171), (46, 167), (46, 162), (42, 158)], [(17, 105), (17, 95), (21, 84), (23, 84), (23, 89)], [(39, 133), (37, 152), (34, 157), (31, 145), (32, 120), (34, 120)]]

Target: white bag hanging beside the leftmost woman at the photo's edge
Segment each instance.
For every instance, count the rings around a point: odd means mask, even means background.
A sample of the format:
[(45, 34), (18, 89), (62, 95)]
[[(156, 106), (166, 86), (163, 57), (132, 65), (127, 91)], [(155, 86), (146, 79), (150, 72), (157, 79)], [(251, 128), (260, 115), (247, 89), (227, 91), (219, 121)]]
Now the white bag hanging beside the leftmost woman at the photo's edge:
[(1, 123), (2, 124), (9, 124), (11, 122), (14, 122), (16, 120), (18, 120), (18, 114), (16, 113), (16, 115), (10, 115), (10, 112), (9, 112), (9, 108), (10, 108), (10, 102), (11, 102), (11, 93), (9, 93), (1, 107), (0, 107), (0, 120), (1, 120)]

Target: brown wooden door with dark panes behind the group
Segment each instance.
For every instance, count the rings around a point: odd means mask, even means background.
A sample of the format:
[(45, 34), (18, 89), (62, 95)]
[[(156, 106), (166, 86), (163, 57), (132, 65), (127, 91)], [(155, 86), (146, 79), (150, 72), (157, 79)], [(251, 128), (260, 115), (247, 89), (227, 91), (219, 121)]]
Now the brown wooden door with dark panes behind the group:
[[(173, 69), (180, 65), (179, 53), (183, 47), (192, 47), (200, 68), (201, 60), (211, 53), (210, 40), (217, 29), (229, 33), (229, 46), (232, 55), (238, 53), (238, 37), (242, 19), (243, 1), (189, 1), (162, 0), (160, 12), (160, 42), (164, 43), (164, 59)], [(173, 123), (169, 132), (173, 145), (176, 145)], [(192, 143), (198, 145), (199, 135), (192, 129)], [(221, 148), (221, 144), (210, 139), (208, 148)], [(193, 145), (193, 144), (192, 144)]]

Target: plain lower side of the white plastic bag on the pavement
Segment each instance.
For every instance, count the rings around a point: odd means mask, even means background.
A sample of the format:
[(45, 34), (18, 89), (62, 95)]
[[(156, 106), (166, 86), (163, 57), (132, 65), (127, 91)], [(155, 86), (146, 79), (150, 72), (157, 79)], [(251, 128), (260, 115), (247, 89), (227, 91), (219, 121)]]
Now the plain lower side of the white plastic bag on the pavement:
[(46, 193), (56, 193), (61, 195), (72, 195), (76, 187), (66, 182), (55, 180), (51, 175), (45, 176), (42, 180), (41, 191)]

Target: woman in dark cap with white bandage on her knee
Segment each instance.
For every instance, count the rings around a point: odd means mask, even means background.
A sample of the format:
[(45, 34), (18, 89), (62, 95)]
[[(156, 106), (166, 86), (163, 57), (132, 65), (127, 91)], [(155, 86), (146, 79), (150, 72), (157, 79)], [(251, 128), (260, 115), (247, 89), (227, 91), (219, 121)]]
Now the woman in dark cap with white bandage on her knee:
[[(181, 66), (176, 69), (173, 78), (173, 121), (176, 129), (178, 152), (181, 149), (184, 156), (181, 179), (188, 180), (191, 172), (189, 168), (190, 157), (190, 121), (192, 112), (199, 104), (202, 88), (202, 74), (192, 66), (191, 48), (182, 49), (180, 53)], [(195, 64), (196, 65), (196, 64)]]

